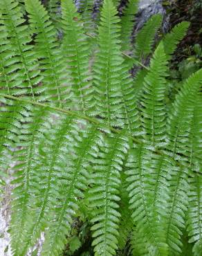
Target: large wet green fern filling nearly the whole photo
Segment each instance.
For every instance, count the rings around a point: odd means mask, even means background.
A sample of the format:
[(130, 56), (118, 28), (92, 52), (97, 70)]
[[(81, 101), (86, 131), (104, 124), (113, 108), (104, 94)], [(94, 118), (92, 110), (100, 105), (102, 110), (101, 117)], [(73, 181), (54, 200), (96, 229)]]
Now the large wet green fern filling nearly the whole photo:
[(181, 255), (185, 230), (201, 255), (202, 70), (182, 82), (172, 107), (165, 100), (189, 24), (154, 51), (155, 15), (133, 45), (138, 1), (121, 17), (118, 3), (103, 1), (95, 31), (91, 1), (77, 11), (71, 0), (47, 10), (39, 0), (1, 0), (0, 181), (3, 192), (15, 163), (13, 255), (32, 251), (42, 232), (40, 255), (62, 255), (80, 217), (97, 256)]

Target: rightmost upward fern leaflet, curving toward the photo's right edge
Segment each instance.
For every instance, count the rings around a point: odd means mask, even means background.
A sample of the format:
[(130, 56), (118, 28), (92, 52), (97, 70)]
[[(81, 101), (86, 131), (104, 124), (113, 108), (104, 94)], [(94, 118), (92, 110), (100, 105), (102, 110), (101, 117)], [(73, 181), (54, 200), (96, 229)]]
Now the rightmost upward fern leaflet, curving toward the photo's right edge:
[(190, 131), (192, 116), (194, 115), (194, 101), (202, 82), (202, 69), (191, 75), (183, 84), (181, 91), (169, 114), (167, 124), (167, 148), (174, 158), (178, 154), (190, 155)]

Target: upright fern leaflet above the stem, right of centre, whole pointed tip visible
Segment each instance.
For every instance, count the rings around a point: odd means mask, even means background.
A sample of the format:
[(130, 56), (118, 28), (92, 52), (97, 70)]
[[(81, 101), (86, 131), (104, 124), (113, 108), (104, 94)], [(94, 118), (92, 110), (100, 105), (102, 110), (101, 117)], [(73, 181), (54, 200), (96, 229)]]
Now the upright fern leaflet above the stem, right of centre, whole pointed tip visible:
[(152, 57), (149, 71), (145, 77), (141, 98), (142, 122), (145, 140), (152, 145), (165, 141), (165, 90), (167, 76), (167, 57), (163, 44), (159, 44)]

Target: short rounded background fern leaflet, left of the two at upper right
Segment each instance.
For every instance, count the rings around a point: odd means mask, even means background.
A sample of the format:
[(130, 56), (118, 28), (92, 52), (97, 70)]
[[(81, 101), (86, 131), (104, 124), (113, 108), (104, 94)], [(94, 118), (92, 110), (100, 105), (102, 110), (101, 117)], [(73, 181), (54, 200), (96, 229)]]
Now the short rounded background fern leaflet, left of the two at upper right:
[(162, 19), (162, 15), (153, 15), (138, 32), (134, 46), (134, 55), (139, 61), (145, 60), (152, 53), (154, 38), (158, 28), (160, 28)]

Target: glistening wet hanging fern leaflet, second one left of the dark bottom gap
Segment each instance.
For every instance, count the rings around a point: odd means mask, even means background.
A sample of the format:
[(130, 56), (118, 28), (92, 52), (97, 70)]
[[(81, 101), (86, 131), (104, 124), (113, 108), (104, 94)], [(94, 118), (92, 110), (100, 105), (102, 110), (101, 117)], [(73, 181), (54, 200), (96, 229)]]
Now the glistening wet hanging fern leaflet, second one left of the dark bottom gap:
[(73, 134), (77, 134), (77, 123), (73, 119), (72, 116), (56, 116), (55, 126), (50, 129), (51, 132), (45, 130), (44, 139), (40, 140), (38, 145), (40, 155), (37, 158), (37, 167), (33, 170), (37, 187), (30, 199), (35, 207), (32, 220), (25, 220), (26, 236), (21, 238), (21, 246), (15, 248), (21, 251), (21, 255), (26, 255), (28, 248), (35, 244), (55, 211), (62, 180), (65, 179), (64, 169), (67, 163), (64, 159), (71, 154), (71, 147), (66, 147), (66, 144), (71, 145)]

